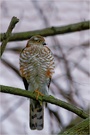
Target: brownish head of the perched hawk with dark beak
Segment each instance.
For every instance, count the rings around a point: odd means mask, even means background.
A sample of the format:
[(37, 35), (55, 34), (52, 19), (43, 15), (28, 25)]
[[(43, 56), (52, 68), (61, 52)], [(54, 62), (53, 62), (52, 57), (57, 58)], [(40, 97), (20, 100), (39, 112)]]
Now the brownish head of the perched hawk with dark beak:
[(31, 45), (41, 45), (41, 46), (44, 46), (44, 45), (46, 45), (45, 39), (42, 36), (40, 36), (40, 35), (32, 36), (29, 39), (28, 43), (27, 43), (27, 47), (29, 47)]

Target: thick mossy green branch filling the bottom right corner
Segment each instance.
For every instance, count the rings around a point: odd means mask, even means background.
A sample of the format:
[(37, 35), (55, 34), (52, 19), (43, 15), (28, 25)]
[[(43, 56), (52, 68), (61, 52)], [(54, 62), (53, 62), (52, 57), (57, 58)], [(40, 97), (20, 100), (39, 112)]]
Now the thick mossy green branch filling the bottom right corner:
[(89, 135), (89, 123), (90, 118), (87, 118), (82, 122), (78, 123), (76, 126), (58, 135)]

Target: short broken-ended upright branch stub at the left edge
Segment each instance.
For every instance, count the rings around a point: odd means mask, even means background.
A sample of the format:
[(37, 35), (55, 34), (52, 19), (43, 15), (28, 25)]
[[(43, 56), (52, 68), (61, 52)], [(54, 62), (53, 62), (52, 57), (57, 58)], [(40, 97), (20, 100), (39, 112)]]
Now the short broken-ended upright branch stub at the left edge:
[(18, 18), (12, 17), (9, 27), (7, 29), (7, 32), (3, 34), (2, 44), (0, 46), (0, 57), (2, 56), (2, 54), (6, 48), (7, 42), (10, 39), (11, 32), (12, 32), (13, 28), (15, 27), (16, 23), (18, 23), (18, 21), (19, 21)]

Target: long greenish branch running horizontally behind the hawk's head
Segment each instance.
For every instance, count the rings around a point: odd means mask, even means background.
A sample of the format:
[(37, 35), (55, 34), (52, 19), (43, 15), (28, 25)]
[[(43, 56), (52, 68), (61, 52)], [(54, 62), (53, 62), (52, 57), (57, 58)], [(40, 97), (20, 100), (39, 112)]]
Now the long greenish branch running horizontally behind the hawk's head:
[[(35, 30), (35, 31), (28, 31), (28, 32), (20, 32), (20, 33), (13, 33), (9, 39), (9, 41), (21, 41), (21, 40), (27, 40), (32, 35), (42, 35), (42, 36), (52, 36), (52, 35), (58, 35), (58, 34), (66, 34), (71, 32), (78, 32), (82, 30), (90, 29), (90, 21), (84, 21), (79, 22), (75, 24), (70, 24), (66, 26), (60, 26), (60, 27), (50, 27), (45, 28), (42, 30)], [(1, 41), (4, 40), (4, 33), (0, 34)]]

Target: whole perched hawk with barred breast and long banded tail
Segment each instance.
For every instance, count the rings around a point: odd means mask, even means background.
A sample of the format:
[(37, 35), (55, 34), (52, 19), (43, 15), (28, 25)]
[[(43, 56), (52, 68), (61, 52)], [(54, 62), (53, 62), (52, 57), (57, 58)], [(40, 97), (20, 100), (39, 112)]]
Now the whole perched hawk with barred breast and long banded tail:
[(41, 35), (32, 36), (20, 53), (20, 75), (25, 89), (36, 92), (36, 100), (30, 99), (29, 126), (31, 130), (44, 127), (44, 103), (38, 96), (49, 95), (49, 86), (55, 69), (54, 56)]

